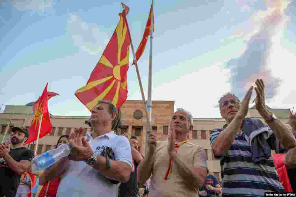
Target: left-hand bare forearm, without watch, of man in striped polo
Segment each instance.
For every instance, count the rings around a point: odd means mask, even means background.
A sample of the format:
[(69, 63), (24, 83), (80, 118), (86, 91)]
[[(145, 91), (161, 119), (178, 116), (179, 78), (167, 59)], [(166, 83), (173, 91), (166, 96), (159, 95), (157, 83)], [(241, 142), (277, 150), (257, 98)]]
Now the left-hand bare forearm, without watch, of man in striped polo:
[(244, 118), (235, 116), (230, 124), (227, 125), (226, 129), (224, 129), (222, 133), (217, 136), (215, 142), (212, 145), (214, 154), (216, 156), (221, 156), (229, 150), (233, 140), (237, 135), (237, 132), (240, 129), (243, 119)]

